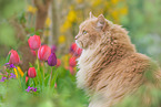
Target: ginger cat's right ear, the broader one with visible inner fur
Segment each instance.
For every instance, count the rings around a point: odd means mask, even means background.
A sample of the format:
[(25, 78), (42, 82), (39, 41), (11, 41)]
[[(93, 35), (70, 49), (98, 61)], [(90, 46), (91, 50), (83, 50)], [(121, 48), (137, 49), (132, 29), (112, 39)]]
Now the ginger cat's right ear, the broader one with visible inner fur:
[(104, 18), (103, 14), (100, 14), (100, 15), (98, 17), (97, 28), (98, 28), (99, 30), (104, 30), (105, 26), (107, 26), (105, 18)]

